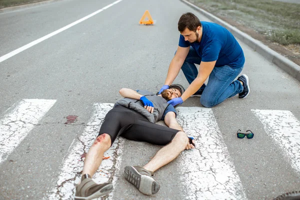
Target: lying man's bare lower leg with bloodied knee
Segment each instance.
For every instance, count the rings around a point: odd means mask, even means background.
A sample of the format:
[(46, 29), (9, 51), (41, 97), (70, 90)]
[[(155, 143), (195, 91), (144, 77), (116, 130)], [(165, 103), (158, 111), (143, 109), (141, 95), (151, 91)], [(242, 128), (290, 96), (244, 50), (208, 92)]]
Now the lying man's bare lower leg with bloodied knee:
[(99, 135), (90, 146), (84, 160), (82, 174), (92, 176), (102, 162), (104, 152), (110, 147), (110, 136), (106, 133)]

